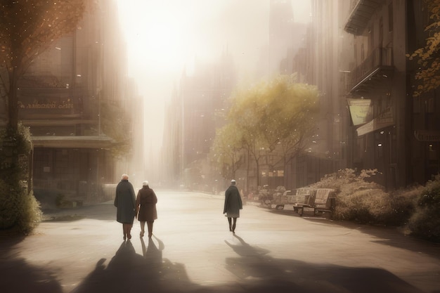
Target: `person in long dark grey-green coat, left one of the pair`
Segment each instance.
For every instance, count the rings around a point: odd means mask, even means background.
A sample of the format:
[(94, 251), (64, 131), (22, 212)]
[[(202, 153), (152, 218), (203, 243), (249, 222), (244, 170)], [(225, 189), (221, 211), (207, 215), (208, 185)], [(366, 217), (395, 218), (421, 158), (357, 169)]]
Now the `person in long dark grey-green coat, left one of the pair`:
[(131, 228), (135, 217), (136, 195), (134, 188), (129, 183), (129, 176), (122, 174), (121, 181), (116, 186), (115, 207), (116, 221), (122, 223), (122, 230), (124, 232), (124, 240), (131, 239)]

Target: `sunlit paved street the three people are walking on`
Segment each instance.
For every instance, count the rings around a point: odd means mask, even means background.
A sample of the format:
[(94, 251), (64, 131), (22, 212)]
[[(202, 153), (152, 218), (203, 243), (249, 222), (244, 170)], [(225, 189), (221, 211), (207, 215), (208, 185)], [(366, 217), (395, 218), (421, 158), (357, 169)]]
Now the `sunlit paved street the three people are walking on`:
[(122, 240), (112, 202), (46, 214), (1, 235), (0, 292), (440, 292), (440, 247), (395, 229), (245, 205), (236, 234), (221, 196), (157, 190), (152, 240)]

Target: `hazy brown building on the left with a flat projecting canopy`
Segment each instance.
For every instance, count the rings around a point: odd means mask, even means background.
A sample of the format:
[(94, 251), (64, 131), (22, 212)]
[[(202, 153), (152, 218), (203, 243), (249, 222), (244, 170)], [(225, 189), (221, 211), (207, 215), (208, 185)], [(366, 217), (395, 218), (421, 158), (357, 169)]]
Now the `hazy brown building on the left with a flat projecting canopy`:
[(94, 5), (18, 82), (19, 119), (32, 134), (37, 199), (109, 199), (105, 186), (127, 170), (117, 164), (131, 153), (127, 53), (115, 2)]

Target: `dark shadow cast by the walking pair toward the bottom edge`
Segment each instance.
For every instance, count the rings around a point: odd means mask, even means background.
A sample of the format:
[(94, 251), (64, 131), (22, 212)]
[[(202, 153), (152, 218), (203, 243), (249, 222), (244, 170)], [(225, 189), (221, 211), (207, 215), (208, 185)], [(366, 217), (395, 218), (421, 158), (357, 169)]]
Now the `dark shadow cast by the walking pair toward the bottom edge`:
[(82, 292), (197, 292), (200, 287), (190, 282), (181, 263), (162, 259), (164, 244), (155, 237), (145, 245), (141, 238), (142, 254), (136, 254), (130, 240), (122, 242), (107, 266), (106, 259), (72, 293)]

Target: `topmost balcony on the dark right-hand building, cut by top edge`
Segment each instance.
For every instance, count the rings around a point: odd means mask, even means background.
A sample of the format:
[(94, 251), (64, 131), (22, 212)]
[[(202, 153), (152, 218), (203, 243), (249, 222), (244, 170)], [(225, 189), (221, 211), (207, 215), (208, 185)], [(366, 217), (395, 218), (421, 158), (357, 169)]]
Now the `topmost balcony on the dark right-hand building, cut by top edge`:
[(361, 35), (375, 10), (382, 5), (382, 0), (352, 0), (352, 10), (345, 22), (344, 30), (349, 34)]

